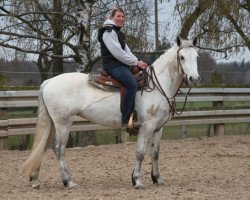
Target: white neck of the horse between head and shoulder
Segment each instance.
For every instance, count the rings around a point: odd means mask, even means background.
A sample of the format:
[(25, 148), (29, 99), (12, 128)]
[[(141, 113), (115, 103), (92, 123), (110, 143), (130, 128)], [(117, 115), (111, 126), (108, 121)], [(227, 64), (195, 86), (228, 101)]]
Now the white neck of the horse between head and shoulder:
[(153, 64), (157, 78), (169, 97), (175, 95), (182, 81), (177, 66), (177, 50), (178, 47), (172, 47)]

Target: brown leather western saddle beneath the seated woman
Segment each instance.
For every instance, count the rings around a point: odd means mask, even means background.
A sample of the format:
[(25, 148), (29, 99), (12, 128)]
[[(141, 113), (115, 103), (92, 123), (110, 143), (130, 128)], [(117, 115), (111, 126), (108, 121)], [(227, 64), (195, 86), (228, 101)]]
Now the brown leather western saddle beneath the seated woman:
[[(147, 85), (145, 70), (139, 67), (132, 67), (131, 72), (138, 82), (138, 90), (143, 89), (143, 87)], [(103, 90), (111, 92), (120, 91), (121, 95), (120, 109), (122, 108), (123, 99), (126, 93), (126, 88), (123, 87), (123, 85), (119, 81), (109, 76), (108, 73), (103, 68), (98, 69), (97, 72), (92, 72), (89, 74), (89, 83)]]

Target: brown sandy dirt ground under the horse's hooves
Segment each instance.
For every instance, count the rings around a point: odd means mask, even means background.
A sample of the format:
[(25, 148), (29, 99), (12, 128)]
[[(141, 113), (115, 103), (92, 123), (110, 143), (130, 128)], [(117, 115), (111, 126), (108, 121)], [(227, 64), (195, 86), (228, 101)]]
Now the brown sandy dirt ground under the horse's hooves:
[(159, 168), (166, 186), (150, 178), (150, 158), (142, 165), (145, 190), (132, 187), (136, 143), (67, 149), (77, 189), (64, 188), (51, 150), (43, 158), (41, 188), (18, 175), (30, 151), (0, 151), (0, 199), (250, 199), (250, 136), (162, 141)]

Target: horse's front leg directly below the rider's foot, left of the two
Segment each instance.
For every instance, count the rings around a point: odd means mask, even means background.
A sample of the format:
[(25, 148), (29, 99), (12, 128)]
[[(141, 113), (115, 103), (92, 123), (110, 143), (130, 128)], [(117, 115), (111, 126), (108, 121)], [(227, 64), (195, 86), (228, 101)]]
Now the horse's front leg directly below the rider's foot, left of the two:
[(144, 189), (144, 185), (141, 181), (141, 164), (145, 157), (149, 135), (152, 134), (152, 131), (146, 128), (146, 125), (142, 126), (139, 131), (138, 141), (137, 141), (137, 148), (136, 148), (136, 162), (135, 168), (132, 173), (132, 183), (136, 189)]

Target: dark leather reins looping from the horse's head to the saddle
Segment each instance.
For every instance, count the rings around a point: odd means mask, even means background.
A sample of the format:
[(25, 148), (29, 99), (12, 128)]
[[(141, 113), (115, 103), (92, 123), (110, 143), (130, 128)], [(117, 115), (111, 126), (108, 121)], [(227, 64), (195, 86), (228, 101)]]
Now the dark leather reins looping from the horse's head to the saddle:
[[(146, 74), (148, 76), (148, 80), (150, 80), (152, 83), (153, 83), (153, 86), (150, 87), (149, 85), (149, 82), (148, 82), (148, 85), (147, 85), (147, 88), (144, 88), (144, 90), (146, 92), (151, 92), (154, 88), (157, 88), (158, 91), (162, 94), (162, 96), (165, 97), (165, 99), (167, 100), (168, 104), (169, 104), (169, 107), (170, 107), (170, 111), (171, 111), (171, 114), (172, 116), (174, 116), (175, 114), (177, 115), (180, 115), (183, 113), (185, 107), (186, 107), (186, 103), (187, 103), (187, 97), (188, 97), (188, 94), (191, 90), (191, 86), (187, 83), (187, 85), (189, 86), (189, 90), (187, 91), (187, 93), (183, 93), (180, 88), (181, 88), (181, 85), (184, 81), (184, 77), (187, 77), (187, 74), (185, 74), (183, 68), (182, 68), (182, 65), (181, 65), (181, 62), (180, 62), (180, 58), (179, 58), (179, 51), (181, 50), (182, 48), (179, 48), (178, 51), (177, 51), (177, 65), (179, 67), (179, 71), (182, 75), (182, 80), (181, 80), (181, 83), (176, 91), (176, 93), (174, 94), (173, 97), (168, 97), (167, 94), (165, 93), (165, 91), (163, 90), (157, 76), (156, 76), (156, 73), (155, 73), (155, 70), (154, 70), (154, 67), (152, 65), (149, 66), (148, 70), (146, 71)], [(149, 90), (148, 90), (149, 89)], [(176, 111), (176, 95), (178, 94), (178, 92), (180, 92), (181, 94), (183, 94), (185, 96), (185, 101), (184, 101), (184, 105), (182, 107), (182, 110), (180, 112), (177, 112)]]

